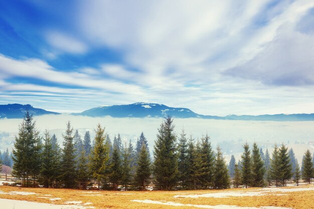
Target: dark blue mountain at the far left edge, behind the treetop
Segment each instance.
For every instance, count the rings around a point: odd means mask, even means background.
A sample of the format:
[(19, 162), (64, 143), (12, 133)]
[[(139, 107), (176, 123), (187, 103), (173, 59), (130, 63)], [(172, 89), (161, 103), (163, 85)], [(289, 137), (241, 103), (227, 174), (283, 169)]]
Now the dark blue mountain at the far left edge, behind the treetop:
[(57, 112), (50, 112), (44, 109), (34, 108), (32, 105), (21, 104), (7, 104), (0, 105), (0, 119), (4, 118), (23, 118), (26, 111), (29, 111), (34, 116), (46, 114), (60, 114)]

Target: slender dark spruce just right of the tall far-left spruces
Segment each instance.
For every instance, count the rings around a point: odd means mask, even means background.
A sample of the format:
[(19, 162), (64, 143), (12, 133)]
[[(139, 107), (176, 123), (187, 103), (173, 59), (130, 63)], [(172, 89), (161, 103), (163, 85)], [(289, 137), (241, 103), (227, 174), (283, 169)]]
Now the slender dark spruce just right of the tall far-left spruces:
[(52, 149), (51, 137), (46, 129), (44, 134), (44, 147), (42, 152), (42, 166), (41, 176), (43, 177), (43, 183), (46, 188), (51, 187), (53, 180), (53, 157), (54, 151)]

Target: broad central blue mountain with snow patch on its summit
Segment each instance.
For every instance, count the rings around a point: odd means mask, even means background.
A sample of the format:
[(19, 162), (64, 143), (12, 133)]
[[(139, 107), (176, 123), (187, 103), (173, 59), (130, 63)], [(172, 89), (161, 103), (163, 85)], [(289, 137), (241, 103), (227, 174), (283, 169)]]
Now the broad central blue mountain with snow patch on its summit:
[(163, 104), (138, 102), (128, 105), (112, 105), (96, 107), (74, 115), (86, 115), (91, 117), (101, 117), (109, 115), (111, 117), (165, 117), (167, 115), (177, 118), (202, 117), (187, 108), (168, 107)]

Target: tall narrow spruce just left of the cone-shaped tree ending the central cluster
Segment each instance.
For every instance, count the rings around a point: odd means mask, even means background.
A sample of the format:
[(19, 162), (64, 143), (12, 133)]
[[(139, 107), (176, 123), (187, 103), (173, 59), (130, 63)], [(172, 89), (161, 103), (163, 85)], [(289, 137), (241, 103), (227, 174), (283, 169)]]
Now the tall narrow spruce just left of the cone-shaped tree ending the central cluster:
[(208, 134), (206, 134), (205, 137), (202, 137), (201, 156), (203, 160), (202, 166), (204, 172), (202, 176), (202, 184), (205, 188), (208, 188), (209, 186), (213, 186), (215, 169), (215, 156)]

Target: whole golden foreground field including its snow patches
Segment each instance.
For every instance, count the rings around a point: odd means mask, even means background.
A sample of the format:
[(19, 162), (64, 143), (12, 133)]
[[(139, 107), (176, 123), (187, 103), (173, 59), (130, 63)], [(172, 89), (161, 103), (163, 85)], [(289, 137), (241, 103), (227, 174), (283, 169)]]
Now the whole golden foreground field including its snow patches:
[[(32, 192), (32, 193), (29, 193)], [(314, 185), (193, 191), (88, 191), (0, 186), (0, 208), (11, 200), (27, 200), (35, 208), (314, 208)], [(15, 201), (19, 202), (19, 201)], [(27, 208), (27, 204), (22, 202)], [(52, 207), (52, 204), (54, 206)], [(7, 205), (5, 207), (4, 205)], [(16, 204), (18, 205), (18, 204)], [(38, 206), (36, 206), (38, 205)], [(46, 206), (45, 206), (46, 205)], [(58, 205), (60, 207), (58, 207)]]

